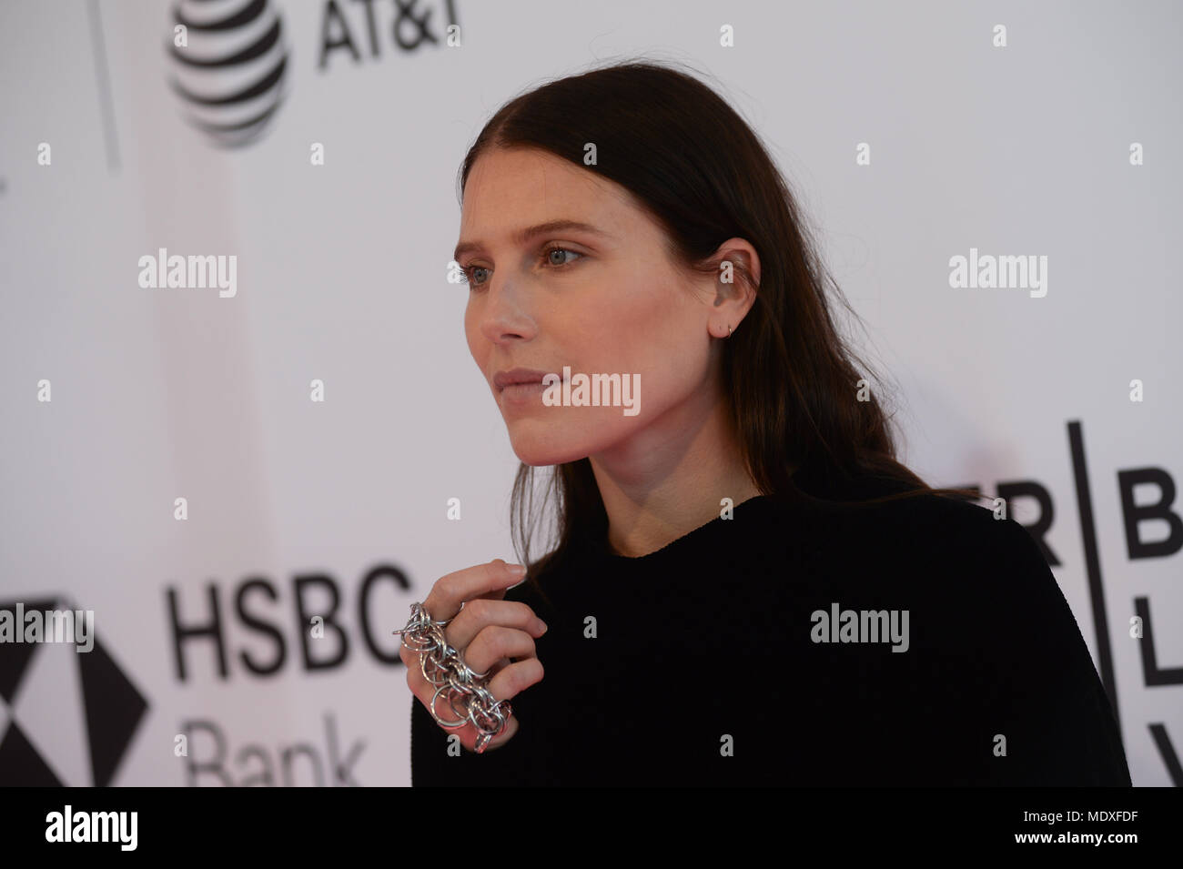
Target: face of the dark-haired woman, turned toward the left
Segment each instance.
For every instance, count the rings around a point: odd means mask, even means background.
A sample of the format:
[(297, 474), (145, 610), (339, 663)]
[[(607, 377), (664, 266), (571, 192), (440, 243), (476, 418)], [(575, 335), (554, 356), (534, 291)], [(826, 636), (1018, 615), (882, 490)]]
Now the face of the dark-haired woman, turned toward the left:
[[(535, 229), (556, 221), (589, 228)], [(465, 333), (526, 465), (672, 446), (715, 406), (712, 281), (677, 271), (662, 239), (625, 188), (547, 151), (492, 149), (473, 164), (455, 254), (468, 279)], [(541, 385), (494, 382), (516, 368), (563, 377), (564, 367), (593, 384), (596, 374), (627, 380), (628, 393), (602, 401), (632, 407), (548, 407)]]

